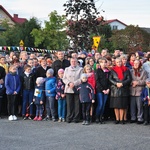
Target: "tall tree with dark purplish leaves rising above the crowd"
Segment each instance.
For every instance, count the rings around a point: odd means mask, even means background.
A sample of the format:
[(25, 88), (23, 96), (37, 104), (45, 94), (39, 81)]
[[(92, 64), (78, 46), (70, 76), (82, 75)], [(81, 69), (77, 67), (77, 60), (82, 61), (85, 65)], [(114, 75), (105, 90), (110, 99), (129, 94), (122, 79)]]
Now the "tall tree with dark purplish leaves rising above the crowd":
[(93, 0), (70, 0), (64, 4), (67, 21), (67, 35), (73, 42), (74, 50), (92, 47), (91, 35), (100, 35), (98, 26), (102, 24), (103, 17), (98, 20), (100, 14)]

